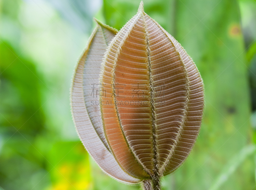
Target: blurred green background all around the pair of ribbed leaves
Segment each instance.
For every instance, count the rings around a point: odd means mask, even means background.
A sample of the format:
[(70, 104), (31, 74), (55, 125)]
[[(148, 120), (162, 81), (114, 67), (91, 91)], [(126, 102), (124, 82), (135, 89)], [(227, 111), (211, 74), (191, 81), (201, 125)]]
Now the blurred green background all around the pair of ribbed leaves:
[[(69, 89), (95, 26), (120, 29), (140, 0), (0, 0), (0, 190), (128, 190), (88, 156)], [(256, 189), (256, 1), (144, 0), (193, 58), (205, 111), (163, 190)]]

